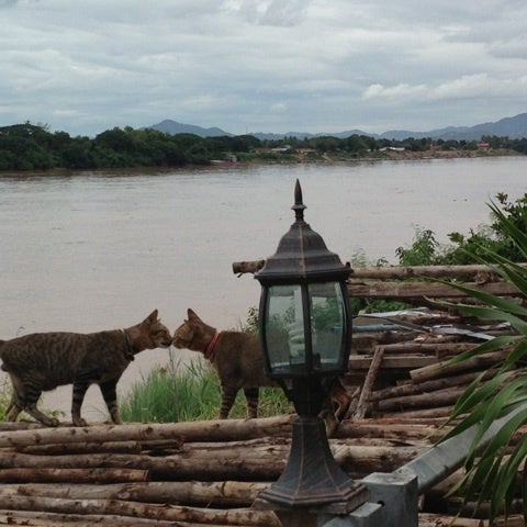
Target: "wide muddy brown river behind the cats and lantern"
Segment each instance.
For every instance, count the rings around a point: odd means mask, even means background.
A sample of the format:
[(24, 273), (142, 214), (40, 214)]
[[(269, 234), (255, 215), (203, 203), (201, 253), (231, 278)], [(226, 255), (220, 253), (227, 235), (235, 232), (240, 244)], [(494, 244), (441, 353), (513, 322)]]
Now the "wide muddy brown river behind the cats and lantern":
[[(416, 228), (447, 243), (452, 231), (489, 223), (490, 200), (524, 195), (526, 173), (527, 157), (4, 173), (0, 337), (126, 327), (154, 309), (171, 330), (187, 307), (237, 327), (258, 304), (259, 284), (233, 274), (232, 262), (274, 253), (293, 222), (296, 179), (305, 220), (329, 250), (343, 261), (362, 251), (396, 264)], [(141, 354), (120, 394), (167, 356)], [(91, 419), (104, 417), (97, 390), (83, 408)], [(44, 407), (69, 418), (70, 392), (46, 394)]]

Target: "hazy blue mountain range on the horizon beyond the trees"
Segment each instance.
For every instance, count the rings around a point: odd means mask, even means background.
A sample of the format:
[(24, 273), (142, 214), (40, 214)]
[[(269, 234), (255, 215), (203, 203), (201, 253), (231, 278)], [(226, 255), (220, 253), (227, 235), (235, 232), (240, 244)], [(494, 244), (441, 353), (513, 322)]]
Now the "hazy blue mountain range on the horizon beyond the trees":
[[(165, 120), (160, 123), (153, 124), (152, 126), (146, 126), (147, 128), (158, 130), (159, 132), (165, 132), (168, 134), (195, 134), (200, 137), (218, 137), (218, 136), (229, 136), (233, 137), (235, 134), (225, 132), (218, 127), (203, 128), (201, 126), (195, 126), (192, 124), (178, 123), (177, 121)], [(512, 139), (519, 139), (522, 137), (527, 137), (527, 113), (520, 113), (513, 117), (504, 117), (495, 123), (482, 123), (474, 126), (447, 126), (446, 128), (430, 130), (428, 132), (412, 132), (407, 130), (391, 130), (382, 134), (369, 134), (362, 132), (361, 130), (348, 130), (338, 133), (332, 134), (313, 134), (310, 132), (288, 132), (287, 134), (273, 134), (273, 133), (264, 133), (256, 132), (250, 133), (250, 135), (262, 139), (282, 139), (284, 137), (299, 137), (299, 138), (311, 138), (330, 135), (333, 137), (346, 138), (350, 135), (367, 135), (374, 138), (386, 138), (403, 141), (408, 137), (414, 137), (419, 139), (423, 137), (430, 137), (433, 139), (444, 139), (444, 141), (480, 141), (483, 135), (495, 135), (497, 137), (509, 137)]]

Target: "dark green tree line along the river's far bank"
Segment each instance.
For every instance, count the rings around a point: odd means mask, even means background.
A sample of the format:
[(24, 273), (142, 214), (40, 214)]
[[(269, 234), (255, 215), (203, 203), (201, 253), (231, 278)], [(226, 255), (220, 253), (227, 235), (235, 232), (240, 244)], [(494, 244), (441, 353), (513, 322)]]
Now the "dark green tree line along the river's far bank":
[(316, 162), (356, 159), (414, 159), (527, 154), (527, 138), (483, 136), (481, 141), (390, 141), (366, 135), (200, 137), (152, 128), (114, 127), (96, 137), (71, 137), (24, 123), (0, 127), (0, 170), (182, 167), (223, 162)]

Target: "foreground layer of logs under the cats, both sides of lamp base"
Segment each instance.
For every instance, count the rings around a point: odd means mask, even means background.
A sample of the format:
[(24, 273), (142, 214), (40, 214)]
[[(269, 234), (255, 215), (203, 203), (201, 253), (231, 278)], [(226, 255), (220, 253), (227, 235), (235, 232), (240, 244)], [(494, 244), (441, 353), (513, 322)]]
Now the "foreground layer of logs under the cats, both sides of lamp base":
[[(284, 469), (293, 418), (0, 425), (0, 525), (278, 527), (272, 512), (251, 504)], [(394, 424), (386, 434), (384, 425), (379, 438), (360, 428), (349, 424), (330, 439), (354, 479), (410, 461), (429, 448), (434, 426)]]

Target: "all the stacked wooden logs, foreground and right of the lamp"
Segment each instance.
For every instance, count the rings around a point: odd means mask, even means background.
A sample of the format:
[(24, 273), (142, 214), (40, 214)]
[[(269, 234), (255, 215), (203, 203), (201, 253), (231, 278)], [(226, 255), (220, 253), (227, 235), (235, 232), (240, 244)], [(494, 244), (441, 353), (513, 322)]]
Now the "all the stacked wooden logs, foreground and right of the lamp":
[[(492, 375), (508, 352), (444, 367), (457, 354), (512, 330), (446, 309), (441, 300), (468, 299), (426, 281), (438, 277), (525, 302), (483, 266), (354, 270), (350, 295), (408, 304), (354, 321), (349, 371), (343, 379), (352, 402), (329, 445), (356, 480), (394, 471), (433, 447), (463, 389), (481, 372)], [(293, 418), (83, 428), (1, 423), (0, 525), (279, 527), (272, 512), (251, 504), (285, 467)], [(461, 476), (457, 471), (427, 490), (419, 526), (487, 525), (484, 506), (462, 507), (461, 497), (446, 497)], [(507, 525), (523, 526), (519, 500), (514, 507)]]

